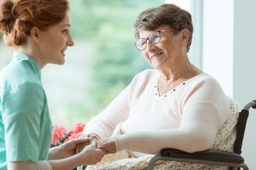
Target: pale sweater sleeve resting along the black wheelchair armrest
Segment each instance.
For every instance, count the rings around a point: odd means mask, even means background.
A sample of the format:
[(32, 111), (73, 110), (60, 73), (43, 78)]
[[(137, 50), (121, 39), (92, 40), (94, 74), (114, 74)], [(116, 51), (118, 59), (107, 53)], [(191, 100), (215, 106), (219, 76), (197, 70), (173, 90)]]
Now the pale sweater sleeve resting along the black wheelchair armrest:
[(209, 78), (197, 83), (179, 105), (182, 110), (179, 127), (119, 135), (115, 139), (117, 150), (158, 154), (164, 148), (187, 152), (211, 148), (229, 113), (228, 99), (218, 82)]

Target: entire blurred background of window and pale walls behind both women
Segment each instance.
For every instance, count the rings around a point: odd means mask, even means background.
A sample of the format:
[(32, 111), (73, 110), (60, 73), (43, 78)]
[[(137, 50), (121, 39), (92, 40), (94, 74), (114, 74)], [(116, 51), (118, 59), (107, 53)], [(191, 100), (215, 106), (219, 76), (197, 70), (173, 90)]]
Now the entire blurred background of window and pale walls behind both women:
[[(72, 36), (65, 65), (47, 65), (42, 81), (56, 125), (88, 122), (138, 72), (149, 68), (134, 46), (137, 14), (162, 3), (189, 10), (195, 27), (191, 62), (215, 77), (240, 108), (256, 98), (256, 22), (253, 0), (71, 0)], [(1, 38), (1, 37), (0, 37)], [(0, 42), (0, 70), (13, 50)], [(242, 155), (256, 169), (256, 111), (248, 118)]]

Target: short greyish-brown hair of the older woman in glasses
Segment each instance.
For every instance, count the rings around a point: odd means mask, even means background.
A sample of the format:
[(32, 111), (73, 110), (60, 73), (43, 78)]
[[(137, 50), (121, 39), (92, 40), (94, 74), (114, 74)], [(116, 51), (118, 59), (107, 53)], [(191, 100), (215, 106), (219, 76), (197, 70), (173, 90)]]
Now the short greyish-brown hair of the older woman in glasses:
[[(165, 3), (156, 8), (148, 8), (137, 16), (134, 24), (135, 37), (139, 37), (139, 31), (154, 31), (157, 27), (167, 25), (172, 29), (181, 31), (187, 29), (189, 31), (189, 41), (187, 44), (187, 52), (192, 41), (193, 24), (191, 15), (188, 11), (177, 7), (174, 4)], [(173, 32), (177, 34), (177, 32)]]

